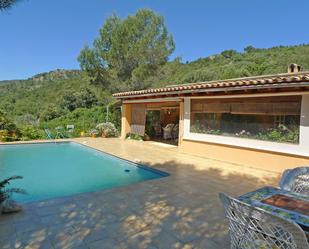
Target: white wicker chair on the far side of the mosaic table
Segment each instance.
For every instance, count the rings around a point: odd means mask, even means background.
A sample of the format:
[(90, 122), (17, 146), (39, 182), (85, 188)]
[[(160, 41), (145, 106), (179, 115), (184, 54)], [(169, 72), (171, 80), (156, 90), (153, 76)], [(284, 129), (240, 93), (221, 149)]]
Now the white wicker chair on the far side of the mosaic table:
[(298, 167), (283, 172), (280, 188), (309, 196), (309, 167)]

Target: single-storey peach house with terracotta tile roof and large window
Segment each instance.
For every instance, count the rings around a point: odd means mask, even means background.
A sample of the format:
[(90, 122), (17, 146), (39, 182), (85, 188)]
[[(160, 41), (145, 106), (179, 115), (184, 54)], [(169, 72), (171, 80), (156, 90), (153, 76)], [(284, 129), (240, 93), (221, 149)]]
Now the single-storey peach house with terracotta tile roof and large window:
[(163, 125), (179, 123), (181, 152), (277, 172), (309, 164), (309, 72), (296, 64), (285, 74), (113, 96), (122, 103), (122, 138), (143, 135), (147, 112), (160, 110), (170, 116)]

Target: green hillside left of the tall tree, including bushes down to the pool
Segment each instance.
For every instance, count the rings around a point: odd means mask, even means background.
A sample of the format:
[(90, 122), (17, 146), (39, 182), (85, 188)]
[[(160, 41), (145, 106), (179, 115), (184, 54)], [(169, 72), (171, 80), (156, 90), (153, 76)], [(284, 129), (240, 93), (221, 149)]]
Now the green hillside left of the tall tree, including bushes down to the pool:
[[(7, 124), (0, 127), (0, 140), (46, 138), (44, 128), (55, 133), (56, 127), (65, 129), (69, 124), (76, 127), (71, 134), (74, 136), (87, 134), (106, 120), (119, 124), (119, 108), (110, 108), (106, 114), (107, 105), (113, 102), (110, 93), (90, 84), (89, 78), (78, 70), (56, 70), (0, 84), (0, 118)], [(6, 129), (12, 124), (18, 129)]]

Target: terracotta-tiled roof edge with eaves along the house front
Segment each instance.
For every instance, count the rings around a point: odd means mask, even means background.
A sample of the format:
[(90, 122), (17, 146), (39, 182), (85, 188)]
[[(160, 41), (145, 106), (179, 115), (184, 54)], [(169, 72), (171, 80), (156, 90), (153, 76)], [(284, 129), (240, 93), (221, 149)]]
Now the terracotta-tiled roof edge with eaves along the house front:
[(165, 88), (116, 93), (121, 100), (176, 98), (205, 95), (256, 94), (270, 92), (309, 91), (309, 72), (259, 76), (225, 81), (175, 85)]

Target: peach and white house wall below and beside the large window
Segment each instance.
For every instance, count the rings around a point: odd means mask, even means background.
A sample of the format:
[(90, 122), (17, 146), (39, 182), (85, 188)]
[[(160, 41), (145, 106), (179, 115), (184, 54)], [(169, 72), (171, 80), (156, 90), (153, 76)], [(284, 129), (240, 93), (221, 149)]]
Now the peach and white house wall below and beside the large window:
[(180, 151), (275, 172), (309, 165), (309, 95), (302, 96), (299, 144), (190, 132), (190, 98), (184, 99), (184, 132)]

